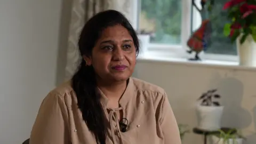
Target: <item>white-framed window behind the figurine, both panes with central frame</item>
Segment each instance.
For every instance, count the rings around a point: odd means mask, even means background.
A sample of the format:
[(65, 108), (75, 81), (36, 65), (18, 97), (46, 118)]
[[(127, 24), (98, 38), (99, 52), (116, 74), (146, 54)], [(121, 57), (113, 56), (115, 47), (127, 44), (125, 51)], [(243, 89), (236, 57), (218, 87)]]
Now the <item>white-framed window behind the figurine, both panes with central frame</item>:
[[(191, 4), (192, 0), (140, 0), (139, 30), (151, 33), (149, 50), (178, 52), (179, 57), (187, 57), (187, 39), (201, 25), (202, 18)], [(195, 0), (201, 9), (201, 0)], [(209, 2), (209, 1), (208, 1)], [(227, 21), (222, 11), (226, 0), (215, 0), (212, 13), (212, 44), (202, 54), (206, 59), (237, 60), (235, 44), (223, 35)], [(173, 51), (175, 50), (175, 51)], [(180, 54), (183, 55), (180, 55)], [(186, 55), (186, 56), (185, 56)]]

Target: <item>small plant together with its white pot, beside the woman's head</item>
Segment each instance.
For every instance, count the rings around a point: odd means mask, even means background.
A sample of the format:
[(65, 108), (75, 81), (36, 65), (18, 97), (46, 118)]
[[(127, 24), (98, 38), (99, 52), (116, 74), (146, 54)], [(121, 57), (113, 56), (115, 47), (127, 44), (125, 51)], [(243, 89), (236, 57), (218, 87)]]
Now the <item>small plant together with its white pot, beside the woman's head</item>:
[(151, 36), (151, 32), (146, 31), (144, 29), (140, 30), (138, 32), (138, 38), (140, 41), (140, 47), (141, 47), (141, 51), (140, 51), (140, 57), (143, 57), (146, 55), (146, 53), (148, 52), (148, 45), (150, 43), (150, 36)]

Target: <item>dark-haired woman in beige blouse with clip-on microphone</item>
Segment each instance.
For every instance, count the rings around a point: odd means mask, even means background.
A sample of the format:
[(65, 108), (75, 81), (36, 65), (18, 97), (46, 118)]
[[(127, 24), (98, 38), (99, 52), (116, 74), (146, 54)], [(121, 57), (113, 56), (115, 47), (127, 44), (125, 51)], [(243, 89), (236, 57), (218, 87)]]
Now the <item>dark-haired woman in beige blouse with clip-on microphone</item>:
[(139, 42), (124, 15), (96, 14), (78, 46), (81, 65), (43, 100), (30, 144), (181, 143), (165, 91), (131, 78)]

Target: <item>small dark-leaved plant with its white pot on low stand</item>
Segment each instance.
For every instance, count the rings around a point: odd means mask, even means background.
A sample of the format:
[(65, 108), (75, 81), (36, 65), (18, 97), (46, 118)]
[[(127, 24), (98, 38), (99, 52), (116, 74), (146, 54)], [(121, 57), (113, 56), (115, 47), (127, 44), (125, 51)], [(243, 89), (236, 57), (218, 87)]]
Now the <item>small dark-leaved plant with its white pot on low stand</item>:
[(199, 97), (201, 101), (197, 105), (198, 128), (208, 131), (216, 131), (220, 129), (221, 116), (223, 106), (218, 101), (220, 95), (216, 94), (217, 89), (209, 90)]

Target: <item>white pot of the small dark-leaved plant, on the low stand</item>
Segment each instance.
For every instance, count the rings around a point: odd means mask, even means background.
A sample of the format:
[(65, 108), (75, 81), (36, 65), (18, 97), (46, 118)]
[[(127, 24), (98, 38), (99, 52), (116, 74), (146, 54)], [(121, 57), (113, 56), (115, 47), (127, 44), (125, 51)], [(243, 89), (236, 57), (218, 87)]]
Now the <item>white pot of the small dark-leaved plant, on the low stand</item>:
[(198, 128), (207, 131), (217, 131), (221, 128), (223, 106), (197, 106)]

